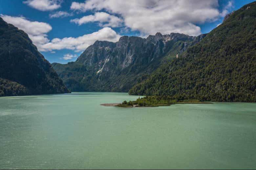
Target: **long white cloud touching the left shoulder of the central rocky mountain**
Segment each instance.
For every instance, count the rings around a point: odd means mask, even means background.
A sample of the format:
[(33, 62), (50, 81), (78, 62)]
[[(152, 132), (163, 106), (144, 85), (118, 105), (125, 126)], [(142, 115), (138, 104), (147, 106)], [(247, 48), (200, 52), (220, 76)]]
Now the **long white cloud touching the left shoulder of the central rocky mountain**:
[(74, 50), (75, 52), (79, 52), (85, 50), (89, 45), (93, 44), (96, 40), (116, 42), (120, 37), (121, 36), (110, 27), (104, 27), (99, 31), (96, 31), (91, 34), (85, 34), (77, 38), (65, 37), (63, 39), (52, 39), (51, 42), (41, 45), (41, 51), (69, 49)]

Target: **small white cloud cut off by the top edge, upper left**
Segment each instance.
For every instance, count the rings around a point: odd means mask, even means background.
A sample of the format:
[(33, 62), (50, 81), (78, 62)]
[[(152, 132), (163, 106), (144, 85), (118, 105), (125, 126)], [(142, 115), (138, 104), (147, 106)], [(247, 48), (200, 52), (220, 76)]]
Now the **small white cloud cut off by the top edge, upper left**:
[(23, 3), (40, 11), (50, 11), (60, 8), (62, 0), (27, 0)]

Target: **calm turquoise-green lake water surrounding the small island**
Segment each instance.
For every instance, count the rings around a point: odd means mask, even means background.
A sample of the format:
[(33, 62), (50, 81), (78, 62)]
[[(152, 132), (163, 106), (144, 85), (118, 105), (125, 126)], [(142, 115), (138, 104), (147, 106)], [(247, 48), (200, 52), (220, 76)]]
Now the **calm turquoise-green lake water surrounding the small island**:
[(100, 106), (137, 97), (0, 98), (0, 169), (256, 168), (256, 103)]

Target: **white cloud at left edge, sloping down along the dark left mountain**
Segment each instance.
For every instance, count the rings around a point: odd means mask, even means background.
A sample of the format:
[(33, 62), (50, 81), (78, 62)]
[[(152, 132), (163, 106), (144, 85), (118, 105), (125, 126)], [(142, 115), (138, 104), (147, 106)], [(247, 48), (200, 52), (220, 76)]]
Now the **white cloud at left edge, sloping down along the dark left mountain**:
[(11, 23), (19, 29), (25, 31), (39, 50), (41, 49), (42, 44), (49, 42), (47, 33), (52, 30), (52, 26), (50, 24), (37, 21), (29, 21), (25, 17), (12, 17), (2, 14), (1, 17), (7, 23)]

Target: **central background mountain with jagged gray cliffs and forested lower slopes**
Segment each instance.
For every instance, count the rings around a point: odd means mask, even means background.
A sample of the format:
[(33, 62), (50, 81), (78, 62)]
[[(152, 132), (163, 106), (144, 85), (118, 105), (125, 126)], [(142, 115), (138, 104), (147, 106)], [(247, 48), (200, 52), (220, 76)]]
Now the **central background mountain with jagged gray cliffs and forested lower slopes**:
[(146, 39), (123, 36), (115, 43), (96, 41), (75, 62), (52, 65), (71, 91), (128, 92), (161, 63), (181, 54), (205, 36), (157, 33)]

